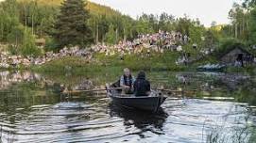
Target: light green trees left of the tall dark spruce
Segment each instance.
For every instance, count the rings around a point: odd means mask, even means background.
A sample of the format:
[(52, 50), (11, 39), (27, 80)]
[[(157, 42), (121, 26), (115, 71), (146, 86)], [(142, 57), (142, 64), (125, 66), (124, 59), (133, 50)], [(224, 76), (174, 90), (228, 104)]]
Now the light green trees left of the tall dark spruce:
[(9, 43), (12, 54), (41, 55), (35, 40), (51, 34), (57, 12), (57, 8), (39, 5), (37, 1), (1, 2), (0, 41)]

